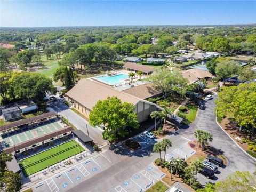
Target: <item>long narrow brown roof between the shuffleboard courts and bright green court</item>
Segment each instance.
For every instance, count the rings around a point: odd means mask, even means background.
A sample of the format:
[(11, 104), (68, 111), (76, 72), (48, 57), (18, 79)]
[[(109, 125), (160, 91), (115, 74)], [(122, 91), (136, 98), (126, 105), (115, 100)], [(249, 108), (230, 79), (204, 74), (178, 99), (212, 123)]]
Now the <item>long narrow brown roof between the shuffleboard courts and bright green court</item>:
[(60, 134), (63, 134), (63, 133), (69, 132), (69, 131), (73, 131), (73, 130), (74, 130), (73, 127), (67, 126), (66, 128), (62, 128), (62, 129), (59, 129), (57, 131), (53, 131), (53, 132), (51, 132), (49, 134), (42, 135), (41, 137), (37, 137), (37, 138), (34, 138), (34, 139), (30, 139), (28, 141), (21, 142), (18, 145), (15, 145), (15, 147), (11, 146), (11, 147), (5, 148), (4, 151), (6, 153), (12, 153), (13, 151), (17, 151), (17, 150), (23, 149), (25, 147), (34, 145), (36, 143), (45, 141), (47, 139), (56, 137), (56, 136), (58, 136)]

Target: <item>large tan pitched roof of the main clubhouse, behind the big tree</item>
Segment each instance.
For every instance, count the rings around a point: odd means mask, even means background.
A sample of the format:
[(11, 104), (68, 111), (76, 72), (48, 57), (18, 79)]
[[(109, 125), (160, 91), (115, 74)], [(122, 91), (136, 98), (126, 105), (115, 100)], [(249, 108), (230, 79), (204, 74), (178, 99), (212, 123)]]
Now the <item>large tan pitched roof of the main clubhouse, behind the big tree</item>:
[[(148, 102), (90, 79), (81, 79), (66, 95), (90, 110), (99, 100), (105, 100), (108, 96), (116, 96), (122, 102), (129, 102), (133, 105), (136, 105), (139, 101)], [(154, 103), (150, 104), (154, 105)]]

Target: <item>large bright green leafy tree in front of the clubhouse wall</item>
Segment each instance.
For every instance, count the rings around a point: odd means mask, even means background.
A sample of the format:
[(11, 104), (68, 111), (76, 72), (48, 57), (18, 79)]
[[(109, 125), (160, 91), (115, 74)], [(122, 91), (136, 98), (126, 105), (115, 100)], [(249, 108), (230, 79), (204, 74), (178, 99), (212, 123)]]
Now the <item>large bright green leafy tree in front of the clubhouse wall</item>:
[(108, 97), (105, 100), (99, 100), (92, 108), (89, 115), (90, 124), (92, 126), (106, 125), (106, 129), (102, 133), (103, 139), (114, 141), (117, 139), (117, 135), (124, 137), (128, 134), (126, 126), (134, 129), (139, 127), (134, 110), (135, 106), (131, 103), (122, 103), (117, 97)]

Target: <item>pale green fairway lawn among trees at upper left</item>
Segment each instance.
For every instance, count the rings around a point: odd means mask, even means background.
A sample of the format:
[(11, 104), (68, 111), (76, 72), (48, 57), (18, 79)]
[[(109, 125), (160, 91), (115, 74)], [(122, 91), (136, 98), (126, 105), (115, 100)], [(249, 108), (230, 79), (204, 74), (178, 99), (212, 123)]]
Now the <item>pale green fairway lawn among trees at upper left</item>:
[(43, 55), (42, 62), (44, 64), (45, 69), (40, 69), (37, 72), (44, 74), (46, 77), (53, 78), (54, 71), (59, 68), (58, 61), (60, 61), (60, 59), (56, 59), (55, 57), (46, 60), (46, 56)]

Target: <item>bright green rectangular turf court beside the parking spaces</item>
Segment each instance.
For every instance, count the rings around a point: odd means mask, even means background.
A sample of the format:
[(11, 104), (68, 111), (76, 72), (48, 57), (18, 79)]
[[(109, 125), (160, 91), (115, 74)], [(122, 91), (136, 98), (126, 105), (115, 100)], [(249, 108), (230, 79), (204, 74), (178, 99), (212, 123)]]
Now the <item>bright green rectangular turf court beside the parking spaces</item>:
[(84, 151), (75, 140), (68, 141), (19, 162), (23, 173), (27, 176), (41, 171), (47, 166), (59, 163), (66, 158)]

